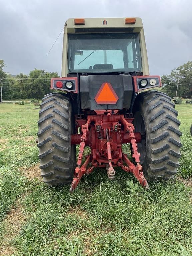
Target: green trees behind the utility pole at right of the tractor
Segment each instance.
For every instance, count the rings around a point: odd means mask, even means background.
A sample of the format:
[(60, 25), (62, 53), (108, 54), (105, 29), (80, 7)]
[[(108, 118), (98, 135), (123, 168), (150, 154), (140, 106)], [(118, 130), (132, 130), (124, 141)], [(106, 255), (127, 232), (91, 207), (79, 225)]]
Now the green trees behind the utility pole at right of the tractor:
[(186, 64), (172, 70), (170, 75), (163, 75), (161, 77), (162, 91), (166, 92), (172, 98), (175, 97), (178, 79), (177, 96), (192, 96), (192, 61), (188, 61)]

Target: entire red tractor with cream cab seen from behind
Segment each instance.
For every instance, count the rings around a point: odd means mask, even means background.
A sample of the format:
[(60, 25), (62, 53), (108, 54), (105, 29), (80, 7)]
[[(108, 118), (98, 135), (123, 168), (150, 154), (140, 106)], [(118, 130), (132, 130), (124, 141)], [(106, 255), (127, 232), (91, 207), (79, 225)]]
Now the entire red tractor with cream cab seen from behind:
[[(141, 18), (75, 18), (64, 26), (62, 75), (42, 99), (38, 148), (43, 181), (70, 184), (115, 167), (148, 180), (174, 178), (181, 157), (175, 104), (149, 75)], [(122, 145), (130, 143), (132, 161)], [(76, 145), (79, 145), (76, 160)], [(90, 154), (84, 153), (85, 147)], [(117, 170), (116, 170), (117, 171)]]

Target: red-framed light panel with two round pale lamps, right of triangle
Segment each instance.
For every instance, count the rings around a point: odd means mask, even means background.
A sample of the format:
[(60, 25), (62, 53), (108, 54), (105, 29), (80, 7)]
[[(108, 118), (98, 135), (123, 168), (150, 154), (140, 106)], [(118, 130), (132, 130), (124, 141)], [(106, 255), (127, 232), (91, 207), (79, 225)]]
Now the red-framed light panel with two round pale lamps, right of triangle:
[(135, 92), (153, 87), (161, 87), (160, 76), (133, 76)]

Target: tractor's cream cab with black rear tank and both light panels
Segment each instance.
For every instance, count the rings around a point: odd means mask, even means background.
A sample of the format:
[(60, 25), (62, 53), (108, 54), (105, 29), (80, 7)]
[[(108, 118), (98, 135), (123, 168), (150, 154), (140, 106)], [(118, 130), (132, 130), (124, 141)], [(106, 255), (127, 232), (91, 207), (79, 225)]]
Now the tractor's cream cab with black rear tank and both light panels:
[(135, 93), (161, 85), (159, 76), (149, 76), (141, 18), (68, 19), (61, 81), (52, 79), (52, 88), (80, 94), (73, 96), (75, 114), (132, 112)]

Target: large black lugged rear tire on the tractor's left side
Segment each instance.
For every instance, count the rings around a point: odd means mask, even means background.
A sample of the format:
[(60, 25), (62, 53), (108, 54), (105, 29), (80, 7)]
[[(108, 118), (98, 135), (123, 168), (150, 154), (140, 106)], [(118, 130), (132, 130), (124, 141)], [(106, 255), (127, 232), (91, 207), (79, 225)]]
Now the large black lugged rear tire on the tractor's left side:
[(72, 106), (60, 93), (47, 94), (42, 101), (37, 134), (41, 176), (48, 185), (67, 184), (72, 181), (76, 166), (76, 147), (71, 145)]

